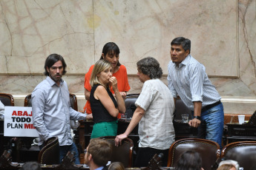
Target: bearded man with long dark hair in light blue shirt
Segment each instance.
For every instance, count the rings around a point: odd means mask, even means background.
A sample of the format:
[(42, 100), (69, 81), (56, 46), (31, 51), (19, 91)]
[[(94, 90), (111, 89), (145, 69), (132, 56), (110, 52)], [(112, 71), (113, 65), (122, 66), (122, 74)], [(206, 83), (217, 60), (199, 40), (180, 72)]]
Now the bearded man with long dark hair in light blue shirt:
[(64, 58), (51, 54), (45, 61), (45, 78), (32, 92), (33, 126), (39, 133), (39, 147), (42, 149), (50, 137), (59, 138), (59, 163), (65, 155), (75, 152), (75, 163), (79, 164), (79, 154), (70, 133), (71, 120), (85, 120), (86, 115), (76, 112), (70, 106), (68, 85), (62, 80), (66, 73)]

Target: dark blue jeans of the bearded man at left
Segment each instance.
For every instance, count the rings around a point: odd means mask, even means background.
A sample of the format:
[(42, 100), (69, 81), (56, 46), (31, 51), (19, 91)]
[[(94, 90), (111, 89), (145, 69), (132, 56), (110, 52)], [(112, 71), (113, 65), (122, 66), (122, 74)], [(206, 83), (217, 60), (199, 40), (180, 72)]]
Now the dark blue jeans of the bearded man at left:
[(79, 153), (76, 148), (75, 143), (72, 143), (70, 146), (59, 146), (59, 163), (62, 163), (63, 158), (68, 154), (68, 152), (73, 152), (73, 158), (75, 159), (75, 164), (80, 164)]

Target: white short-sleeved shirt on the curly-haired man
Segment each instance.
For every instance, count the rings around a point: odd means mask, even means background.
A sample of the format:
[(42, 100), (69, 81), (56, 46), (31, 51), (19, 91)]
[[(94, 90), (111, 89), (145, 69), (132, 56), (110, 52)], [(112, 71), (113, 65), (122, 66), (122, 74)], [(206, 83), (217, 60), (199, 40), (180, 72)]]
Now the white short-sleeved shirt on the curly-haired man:
[(145, 81), (135, 102), (145, 110), (139, 123), (140, 147), (168, 149), (174, 142), (174, 99), (160, 79)]

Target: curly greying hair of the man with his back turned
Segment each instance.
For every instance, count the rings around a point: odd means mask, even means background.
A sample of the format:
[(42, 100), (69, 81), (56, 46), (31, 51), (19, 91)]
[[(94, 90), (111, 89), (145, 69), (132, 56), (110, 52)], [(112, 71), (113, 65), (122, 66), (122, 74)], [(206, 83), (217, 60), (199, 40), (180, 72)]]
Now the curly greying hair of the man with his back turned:
[(150, 79), (162, 78), (163, 70), (159, 62), (153, 57), (142, 58), (137, 62), (137, 67), (144, 75), (148, 75)]

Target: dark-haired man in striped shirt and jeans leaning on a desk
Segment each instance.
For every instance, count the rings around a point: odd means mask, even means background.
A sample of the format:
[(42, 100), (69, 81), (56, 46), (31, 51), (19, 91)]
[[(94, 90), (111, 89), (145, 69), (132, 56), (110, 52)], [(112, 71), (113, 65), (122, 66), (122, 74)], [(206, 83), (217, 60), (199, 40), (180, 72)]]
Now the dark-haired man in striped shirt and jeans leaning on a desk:
[(224, 112), (220, 95), (206, 74), (206, 68), (191, 55), (191, 41), (178, 37), (171, 41), (168, 64), (168, 87), (191, 109), (194, 117), (188, 122), (198, 127), (198, 137), (219, 143), (223, 136)]

